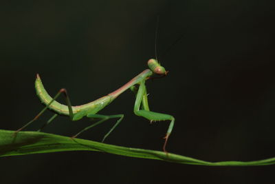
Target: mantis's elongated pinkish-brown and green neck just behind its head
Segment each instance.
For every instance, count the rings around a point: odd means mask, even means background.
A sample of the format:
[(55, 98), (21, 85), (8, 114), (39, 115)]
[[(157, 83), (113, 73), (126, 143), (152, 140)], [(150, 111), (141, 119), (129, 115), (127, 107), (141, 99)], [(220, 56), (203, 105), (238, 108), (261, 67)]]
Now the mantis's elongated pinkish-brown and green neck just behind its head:
[(116, 97), (118, 97), (120, 94), (122, 94), (122, 92), (128, 90), (131, 86), (133, 86), (137, 83), (140, 83), (140, 81), (146, 80), (146, 78), (148, 76), (151, 76), (152, 74), (153, 74), (153, 72), (151, 70), (146, 69), (143, 72), (141, 72), (140, 74), (138, 74), (137, 76), (135, 76), (133, 79), (131, 79), (131, 81), (122, 85), (122, 87), (118, 88), (118, 90), (115, 90), (114, 92), (111, 92), (110, 94), (108, 94), (108, 96), (110, 96), (111, 100), (113, 101)]

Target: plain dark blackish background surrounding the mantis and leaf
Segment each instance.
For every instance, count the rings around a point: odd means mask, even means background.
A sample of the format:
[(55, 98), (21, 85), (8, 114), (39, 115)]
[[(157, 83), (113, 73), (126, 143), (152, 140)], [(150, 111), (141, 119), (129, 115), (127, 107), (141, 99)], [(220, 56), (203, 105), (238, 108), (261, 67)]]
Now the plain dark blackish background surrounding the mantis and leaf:
[[(148, 81), (151, 110), (175, 116), (167, 150), (206, 161), (274, 156), (275, 6), (272, 1), (8, 1), (0, 6), (1, 129), (17, 130), (67, 88), (80, 105), (117, 89), (157, 57), (167, 77)], [(64, 101), (60, 99), (60, 101)], [(167, 121), (133, 114), (127, 91), (100, 114), (125, 114), (106, 143), (162, 150)], [(28, 127), (36, 130), (52, 112)], [(108, 121), (80, 138), (100, 141)], [(58, 117), (45, 132), (89, 125)], [(206, 167), (101, 152), (0, 159), (0, 183), (274, 183), (274, 165)]]

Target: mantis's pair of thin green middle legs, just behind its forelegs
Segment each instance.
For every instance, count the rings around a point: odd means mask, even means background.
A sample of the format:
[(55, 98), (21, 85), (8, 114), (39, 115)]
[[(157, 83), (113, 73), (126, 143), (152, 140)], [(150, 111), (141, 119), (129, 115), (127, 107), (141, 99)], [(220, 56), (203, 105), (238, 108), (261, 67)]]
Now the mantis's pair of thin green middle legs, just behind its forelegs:
[(99, 125), (100, 123), (103, 123), (104, 121), (107, 121), (109, 119), (115, 119), (118, 118), (118, 121), (115, 122), (115, 125), (113, 125), (113, 127), (111, 127), (111, 130), (109, 130), (109, 132), (107, 132), (107, 134), (104, 135), (102, 142), (107, 138), (107, 136), (109, 136), (109, 134), (111, 134), (111, 132), (113, 132), (113, 130), (115, 129), (115, 127), (118, 126), (118, 124), (120, 123), (120, 121), (122, 121), (124, 114), (116, 114), (116, 115), (100, 115), (100, 114), (88, 114), (87, 115), (88, 118), (93, 118), (93, 119), (100, 119), (100, 121), (97, 121), (96, 123), (89, 125), (88, 127), (85, 127), (83, 130), (81, 130), (80, 132), (78, 132), (77, 134), (75, 134), (74, 136), (72, 136), (72, 138), (76, 138), (76, 136), (78, 136), (79, 134), (85, 132), (86, 130), (89, 130), (91, 127), (94, 127), (96, 125)]

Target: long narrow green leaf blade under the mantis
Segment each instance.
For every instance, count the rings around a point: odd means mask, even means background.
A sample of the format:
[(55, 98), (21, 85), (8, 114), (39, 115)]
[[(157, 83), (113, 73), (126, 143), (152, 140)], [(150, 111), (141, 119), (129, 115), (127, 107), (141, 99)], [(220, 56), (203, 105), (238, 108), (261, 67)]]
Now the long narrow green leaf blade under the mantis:
[(164, 153), (154, 150), (143, 150), (118, 145), (109, 145), (89, 141), (85, 139), (71, 139), (67, 136), (47, 134), (43, 132), (19, 132), (0, 130), (0, 156), (17, 156), (22, 154), (38, 154), (49, 152), (65, 152), (89, 150), (96, 152), (107, 152), (122, 156), (131, 156), (143, 159), (156, 159), (174, 163), (210, 166), (248, 166), (248, 165), (272, 165), (275, 164), (275, 157), (261, 161), (222, 161), (208, 162), (192, 159), (178, 154)]

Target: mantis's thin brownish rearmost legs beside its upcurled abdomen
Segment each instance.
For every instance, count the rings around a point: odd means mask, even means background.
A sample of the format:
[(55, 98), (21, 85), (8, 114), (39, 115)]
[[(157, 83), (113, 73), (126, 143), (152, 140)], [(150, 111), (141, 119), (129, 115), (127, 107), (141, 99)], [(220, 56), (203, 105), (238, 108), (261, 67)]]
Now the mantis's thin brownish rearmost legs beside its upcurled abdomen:
[[(31, 123), (33, 123), (34, 121), (36, 121), (37, 119), (39, 119), (39, 117), (45, 112), (45, 110), (47, 110), (50, 105), (58, 98), (58, 96), (60, 96), (61, 94), (64, 94), (65, 96), (65, 100), (67, 103), (67, 106), (69, 108), (69, 117), (72, 120), (74, 117), (73, 114), (73, 110), (72, 110), (72, 105), (71, 105), (71, 101), (69, 100), (69, 96), (67, 94), (67, 90), (65, 90), (64, 88), (62, 88), (61, 90), (59, 90), (59, 92), (56, 94), (56, 96), (54, 96), (54, 98), (52, 99), (52, 101), (50, 101), (50, 103), (48, 103), (45, 108), (43, 108), (43, 110), (41, 110), (41, 112), (39, 112), (39, 114), (37, 114), (34, 119), (32, 119), (31, 121), (29, 121), (28, 123), (26, 123), (25, 125), (23, 125), (23, 127), (19, 128), (19, 130), (15, 131), (14, 134), (17, 134), (19, 131), (23, 130), (25, 127), (27, 127), (28, 125), (30, 125)], [(49, 119), (49, 121), (47, 121), (47, 123), (45, 123), (41, 129), (43, 127), (45, 127), (45, 125), (48, 125), (49, 123), (51, 123), (55, 118), (56, 118), (57, 114), (54, 114), (54, 116), (52, 116), (51, 119)], [(39, 129), (38, 131), (40, 132), (41, 129)]]

